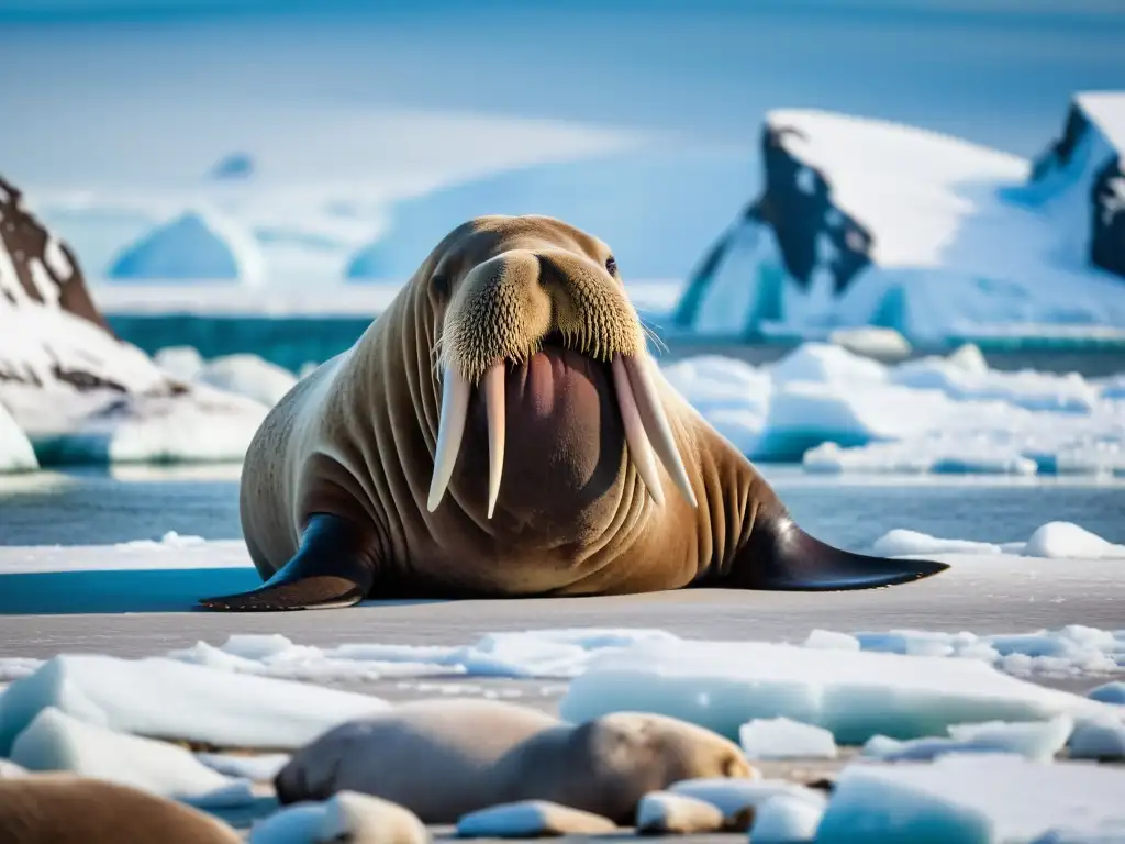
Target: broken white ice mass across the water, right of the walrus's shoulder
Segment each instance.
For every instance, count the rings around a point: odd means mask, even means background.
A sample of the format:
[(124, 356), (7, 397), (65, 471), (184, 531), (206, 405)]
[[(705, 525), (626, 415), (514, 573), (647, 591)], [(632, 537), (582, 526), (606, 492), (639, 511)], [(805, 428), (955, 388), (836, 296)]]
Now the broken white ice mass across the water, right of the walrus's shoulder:
[(989, 369), (972, 345), (888, 366), (810, 342), (770, 365), (699, 356), (662, 372), (748, 457), (810, 473), (1125, 476), (1114, 381)]

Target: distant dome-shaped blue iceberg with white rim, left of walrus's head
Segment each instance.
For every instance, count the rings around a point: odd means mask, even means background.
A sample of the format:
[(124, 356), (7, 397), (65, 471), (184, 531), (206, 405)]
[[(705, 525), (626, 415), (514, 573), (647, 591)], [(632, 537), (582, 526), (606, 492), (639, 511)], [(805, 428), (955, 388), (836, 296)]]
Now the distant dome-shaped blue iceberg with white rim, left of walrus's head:
[(264, 281), (266, 263), (253, 234), (215, 210), (189, 210), (161, 222), (125, 246), (106, 270), (127, 279)]

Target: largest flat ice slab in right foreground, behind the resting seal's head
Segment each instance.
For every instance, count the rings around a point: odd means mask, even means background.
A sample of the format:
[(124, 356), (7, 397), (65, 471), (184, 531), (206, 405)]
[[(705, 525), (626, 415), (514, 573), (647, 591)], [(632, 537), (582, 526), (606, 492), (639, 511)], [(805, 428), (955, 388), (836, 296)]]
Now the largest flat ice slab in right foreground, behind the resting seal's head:
[(560, 712), (583, 721), (645, 710), (735, 740), (747, 718), (785, 717), (829, 729), (838, 743), (862, 743), (878, 733), (915, 738), (954, 724), (1095, 715), (1105, 707), (976, 659), (681, 640), (597, 656), (570, 683)]

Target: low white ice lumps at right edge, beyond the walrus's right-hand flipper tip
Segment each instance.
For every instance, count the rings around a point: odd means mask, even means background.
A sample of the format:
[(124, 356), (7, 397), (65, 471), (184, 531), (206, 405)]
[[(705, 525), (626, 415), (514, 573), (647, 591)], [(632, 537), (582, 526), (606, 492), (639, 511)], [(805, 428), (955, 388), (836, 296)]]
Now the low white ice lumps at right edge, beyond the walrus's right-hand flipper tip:
[(939, 539), (917, 530), (896, 528), (875, 540), (874, 554), (903, 557), (926, 554), (1000, 555), (1018, 554), (1045, 559), (1122, 559), (1125, 545), (1114, 545), (1073, 522), (1041, 524), (1025, 542), (975, 542)]

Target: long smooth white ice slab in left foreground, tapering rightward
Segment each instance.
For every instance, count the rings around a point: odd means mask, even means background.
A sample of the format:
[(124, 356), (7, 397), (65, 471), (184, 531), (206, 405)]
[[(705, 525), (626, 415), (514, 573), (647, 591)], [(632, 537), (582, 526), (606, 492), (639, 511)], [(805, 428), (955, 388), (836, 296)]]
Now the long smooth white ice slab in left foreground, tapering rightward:
[(341, 721), (388, 706), (366, 694), (220, 674), (172, 659), (64, 654), (0, 697), (0, 753), (47, 707), (153, 738), (288, 751)]

